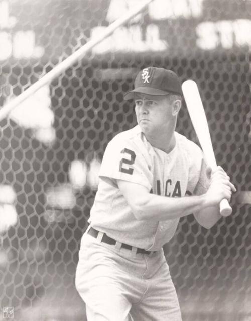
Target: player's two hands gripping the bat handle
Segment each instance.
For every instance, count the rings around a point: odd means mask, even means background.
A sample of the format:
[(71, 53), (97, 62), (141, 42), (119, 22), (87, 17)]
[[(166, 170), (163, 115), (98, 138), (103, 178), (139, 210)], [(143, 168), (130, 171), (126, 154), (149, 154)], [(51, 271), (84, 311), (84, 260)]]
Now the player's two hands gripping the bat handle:
[(210, 185), (206, 192), (207, 203), (209, 206), (216, 206), (223, 198), (230, 202), (232, 192), (236, 192), (235, 186), (222, 167), (217, 166), (211, 171)]

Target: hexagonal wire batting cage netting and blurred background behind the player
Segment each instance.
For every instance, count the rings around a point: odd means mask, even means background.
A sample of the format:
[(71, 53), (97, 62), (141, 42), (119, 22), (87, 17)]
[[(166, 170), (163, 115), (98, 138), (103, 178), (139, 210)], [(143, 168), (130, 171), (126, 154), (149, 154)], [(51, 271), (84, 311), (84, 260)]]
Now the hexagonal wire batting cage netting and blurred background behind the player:
[[(1, 106), (137, 3), (1, 0)], [(184, 217), (164, 247), (183, 319), (251, 317), (250, 10), (244, 0), (155, 0), (0, 121), (0, 319), (85, 319), (80, 239), (104, 149), (136, 124), (123, 94), (148, 66), (197, 82), (217, 163), (238, 189), (231, 216), (209, 230)], [(185, 102), (177, 131), (198, 143)]]

